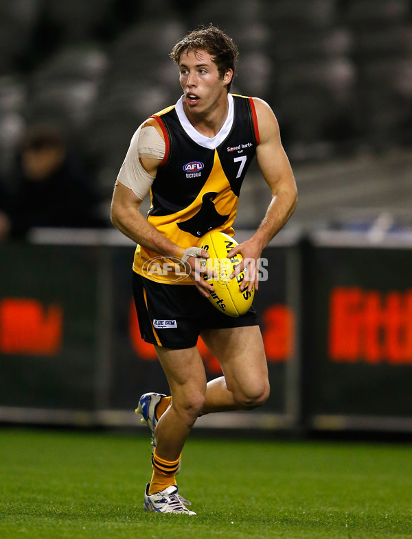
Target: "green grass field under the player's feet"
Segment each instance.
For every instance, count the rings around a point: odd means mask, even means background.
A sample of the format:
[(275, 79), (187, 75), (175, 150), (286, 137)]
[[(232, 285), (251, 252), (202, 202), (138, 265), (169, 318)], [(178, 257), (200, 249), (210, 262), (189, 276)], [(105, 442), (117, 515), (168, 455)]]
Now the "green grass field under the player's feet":
[(148, 440), (0, 431), (0, 537), (412, 538), (407, 444), (192, 439), (186, 516), (144, 512)]

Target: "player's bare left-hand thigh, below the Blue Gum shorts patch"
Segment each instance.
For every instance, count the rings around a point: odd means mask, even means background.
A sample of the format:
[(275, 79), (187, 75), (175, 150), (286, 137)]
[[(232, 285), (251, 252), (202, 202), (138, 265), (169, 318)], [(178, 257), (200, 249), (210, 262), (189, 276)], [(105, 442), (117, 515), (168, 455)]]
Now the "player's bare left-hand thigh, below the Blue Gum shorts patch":
[(172, 400), (186, 403), (198, 400), (206, 392), (206, 373), (196, 346), (174, 350), (155, 346), (157, 356), (168, 379)]

